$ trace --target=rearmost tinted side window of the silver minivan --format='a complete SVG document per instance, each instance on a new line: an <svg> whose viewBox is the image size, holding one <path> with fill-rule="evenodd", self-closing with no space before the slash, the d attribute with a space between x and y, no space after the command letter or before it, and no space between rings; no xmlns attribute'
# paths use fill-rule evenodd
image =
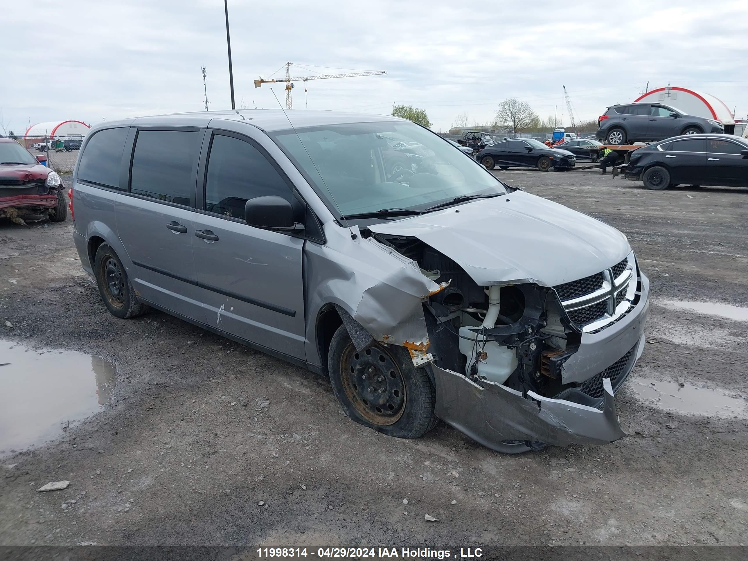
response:
<svg viewBox="0 0 748 561"><path fill-rule="evenodd" d="M122 152L129 128L96 132L86 144L78 165L78 179L96 185L119 188Z"/></svg>

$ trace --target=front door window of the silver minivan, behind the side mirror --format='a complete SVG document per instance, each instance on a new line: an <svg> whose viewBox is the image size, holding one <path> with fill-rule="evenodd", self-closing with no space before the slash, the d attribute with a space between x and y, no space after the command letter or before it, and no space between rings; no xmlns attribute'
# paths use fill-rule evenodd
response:
<svg viewBox="0 0 748 561"><path fill-rule="evenodd" d="M252 144L232 136L215 135L210 145L205 182L205 209L244 220L249 199L278 195L291 200L291 189Z"/></svg>

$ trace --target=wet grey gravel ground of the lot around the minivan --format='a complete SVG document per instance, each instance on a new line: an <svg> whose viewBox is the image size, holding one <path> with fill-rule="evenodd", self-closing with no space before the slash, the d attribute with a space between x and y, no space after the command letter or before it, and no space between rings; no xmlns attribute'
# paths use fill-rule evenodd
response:
<svg viewBox="0 0 748 561"><path fill-rule="evenodd" d="M442 423L384 437L343 416L326 378L163 313L111 316L70 219L4 222L0 337L90 353L117 376L104 411L1 460L0 545L748 542L748 421L666 411L635 390L680 381L748 399L748 323L667 304L748 306L748 191L497 175L618 227L652 281L651 344L616 396L626 438L504 456ZM64 491L36 491L61 479Z"/></svg>

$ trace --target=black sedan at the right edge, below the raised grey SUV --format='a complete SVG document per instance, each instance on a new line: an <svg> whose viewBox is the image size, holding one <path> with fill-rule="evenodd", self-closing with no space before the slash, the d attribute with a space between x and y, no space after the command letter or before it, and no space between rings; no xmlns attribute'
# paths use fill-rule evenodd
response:
<svg viewBox="0 0 748 561"><path fill-rule="evenodd" d="M654 191L681 184L748 187L748 139L732 135L667 138L631 153L622 174Z"/></svg>

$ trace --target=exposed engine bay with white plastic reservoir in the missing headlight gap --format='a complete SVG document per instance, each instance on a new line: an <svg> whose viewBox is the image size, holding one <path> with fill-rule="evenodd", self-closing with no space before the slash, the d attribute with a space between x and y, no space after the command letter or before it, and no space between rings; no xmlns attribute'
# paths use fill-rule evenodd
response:
<svg viewBox="0 0 748 561"><path fill-rule="evenodd" d="M529 283L478 286L455 261L419 239L375 237L414 260L432 281L448 283L424 304L438 367L522 393L551 397L565 389L561 366L579 348L581 332L554 289Z"/></svg>

